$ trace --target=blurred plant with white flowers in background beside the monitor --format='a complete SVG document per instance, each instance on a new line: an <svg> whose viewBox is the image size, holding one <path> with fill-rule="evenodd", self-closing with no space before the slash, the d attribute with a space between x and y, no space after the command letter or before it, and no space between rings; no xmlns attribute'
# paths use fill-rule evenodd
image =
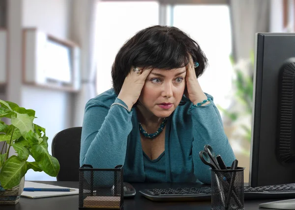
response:
<svg viewBox="0 0 295 210"><path fill-rule="evenodd" d="M253 105L253 70L254 53L249 59L240 59L237 63L230 56L233 65L233 91L231 92L231 105L223 108L217 105L224 114L224 122L228 130L227 136L239 142L239 152L245 157L250 156L251 143L251 117Z"/></svg>

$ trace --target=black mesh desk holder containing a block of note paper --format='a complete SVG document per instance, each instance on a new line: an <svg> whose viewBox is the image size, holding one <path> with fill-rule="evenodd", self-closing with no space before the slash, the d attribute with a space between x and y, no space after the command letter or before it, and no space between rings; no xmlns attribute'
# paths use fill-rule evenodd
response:
<svg viewBox="0 0 295 210"><path fill-rule="evenodd" d="M123 210L123 166L79 168L79 210Z"/></svg>

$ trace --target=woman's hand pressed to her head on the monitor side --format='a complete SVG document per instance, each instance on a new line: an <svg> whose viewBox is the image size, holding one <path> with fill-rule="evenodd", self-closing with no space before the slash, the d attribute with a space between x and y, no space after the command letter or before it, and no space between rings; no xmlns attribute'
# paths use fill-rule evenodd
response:
<svg viewBox="0 0 295 210"><path fill-rule="evenodd" d="M207 96L203 92L199 81L196 76L194 61L191 55L189 55L189 63L186 66L186 91L185 96L188 98L194 105L207 99ZM207 102L208 103L208 102ZM207 103L203 104L206 105Z"/></svg>

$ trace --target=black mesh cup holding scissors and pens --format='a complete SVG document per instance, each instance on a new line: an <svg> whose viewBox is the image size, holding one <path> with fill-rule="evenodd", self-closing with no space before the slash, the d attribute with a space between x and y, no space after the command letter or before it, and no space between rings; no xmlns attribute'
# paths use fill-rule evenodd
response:
<svg viewBox="0 0 295 210"><path fill-rule="evenodd" d="M211 210L244 210L244 169L211 169Z"/></svg>

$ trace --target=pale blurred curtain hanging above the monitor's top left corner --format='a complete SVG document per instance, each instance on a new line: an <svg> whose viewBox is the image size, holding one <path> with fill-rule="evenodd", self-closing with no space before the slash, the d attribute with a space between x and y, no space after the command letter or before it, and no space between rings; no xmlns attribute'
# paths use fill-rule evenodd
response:
<svg viewBox="0 0 295 210"><path fill-rule="evenodd" d="M256 32L269 31L270 0L230 0L236 62L254 52Z"/></svg>

